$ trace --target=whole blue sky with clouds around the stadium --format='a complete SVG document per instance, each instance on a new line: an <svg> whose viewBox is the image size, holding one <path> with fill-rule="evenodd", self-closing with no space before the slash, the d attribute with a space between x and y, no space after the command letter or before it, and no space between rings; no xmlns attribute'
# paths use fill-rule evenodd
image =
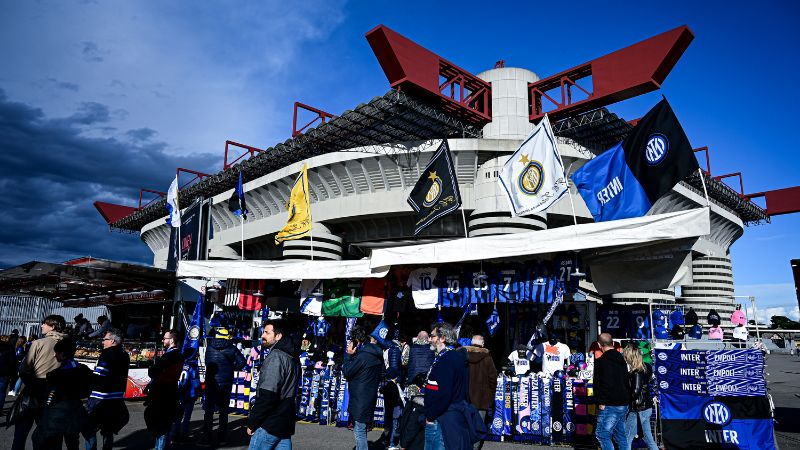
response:
<svg viewBox="0 0 800 450"><path fill-rule="evenodd" d="M339 114L385 93L364 39L380 23L473 73L503 59L542 77L687 24L695 40L663 89L611 109L640 117L663 93L714 174L743 172L747 192L800 185L800 7L709 3L0 0L0 266L150 262L92 202L135 205L176 167L219 171L226 139L281 142L294 101ZM800 214L776 217L732 247L760 316L798 316L798 229Z"/></svg>

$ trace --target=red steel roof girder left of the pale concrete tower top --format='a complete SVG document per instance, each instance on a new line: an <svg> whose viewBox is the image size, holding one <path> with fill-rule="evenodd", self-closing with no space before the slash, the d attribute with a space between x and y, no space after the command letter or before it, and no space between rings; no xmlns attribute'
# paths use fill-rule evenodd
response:
<svg viewBox="0 0 800 450"><path fill-rule="evenodd" d="M492 121L492 86L384 25L366 35L389 85L427 98L469 123Z"/></svg>

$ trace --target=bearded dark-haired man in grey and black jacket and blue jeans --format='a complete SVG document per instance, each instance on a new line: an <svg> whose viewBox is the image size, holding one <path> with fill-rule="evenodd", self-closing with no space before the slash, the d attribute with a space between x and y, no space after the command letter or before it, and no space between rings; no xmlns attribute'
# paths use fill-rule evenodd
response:
<svg viewBox="0 0 800 450"><path fill-rule="evenodd" d="M295 426L295 393L300 377L299 348L285 324L264 326L261 345L266 356L258 377L258 391L247 418L252 450L290 450Z"/></svg>

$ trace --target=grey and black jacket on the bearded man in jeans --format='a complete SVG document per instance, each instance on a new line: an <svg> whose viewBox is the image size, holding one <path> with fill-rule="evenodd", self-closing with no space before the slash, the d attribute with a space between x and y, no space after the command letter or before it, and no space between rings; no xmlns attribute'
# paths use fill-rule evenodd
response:
<svg viewBox="0 0 800 450"><path fill-rule="evenodd" d="M264 358L258 378L258 392L247 417L247 428L263 428L279 438L294 434L295 394L300 378L300 346L297 339L284 336Z"/></svg>

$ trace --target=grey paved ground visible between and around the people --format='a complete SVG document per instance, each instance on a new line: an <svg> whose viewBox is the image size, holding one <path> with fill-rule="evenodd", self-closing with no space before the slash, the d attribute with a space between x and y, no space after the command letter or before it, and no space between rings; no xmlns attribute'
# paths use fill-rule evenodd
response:
<svg viewBox="0 0 800 450"><path fill-rule="evenodd" d="M800 358L788 355L771 355L767 358L767 379L770 382L770 392L775 402L775 433L778 445L782 450L800 448L800 399L795 397L795 393L800 394ZM11 405L13 397L6 403L6 408ZM129 402L128 408L131 414L131 421L117 436L114 448L142 450L152 448L152 437L147 432L142 419L143 406L141 402ZM192 430L199 434L202 422L202 411L199 407L195 409L192 416ZM246 449L249 440L244 430L245 419L243 417L231 417L230 442L223 447L224 449ZM380 436L380 431L369 433L369 440L374 441ZM13 428L0 427L0 450L10 449L13 437ZM81 444L83 440L81 440ZM319 449L319 450L350 450L354 447L352 432L335 427L325 427L315 424L297 425L297 434L293 439L296 449ZM28 441L28 449L33 447ZM194 449L196 445L184 444L172 447L174 450ZM486 450L496 450L501 448L516 448L519 450L546 449L552 447L540 446L520 446L508 443L486 443L483 447Z"/></svg>

